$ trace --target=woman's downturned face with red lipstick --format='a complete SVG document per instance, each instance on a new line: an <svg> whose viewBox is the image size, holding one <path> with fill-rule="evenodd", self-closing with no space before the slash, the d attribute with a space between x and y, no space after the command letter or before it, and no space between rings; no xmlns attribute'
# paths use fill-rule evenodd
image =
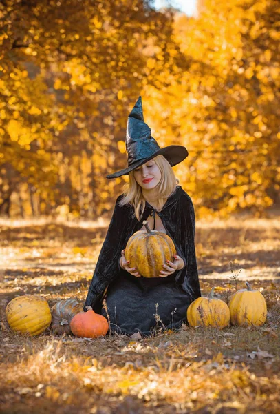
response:
<svg viewBox="0 0 280 414"><path fill-rule="evenodd" d="M136 179L137 184L142 187L144 190L151 190L155 188L160 182L162 177L160 168L153 159L150 159L146 164L143 164L136 170L133 170L134 178Z"/></svg>

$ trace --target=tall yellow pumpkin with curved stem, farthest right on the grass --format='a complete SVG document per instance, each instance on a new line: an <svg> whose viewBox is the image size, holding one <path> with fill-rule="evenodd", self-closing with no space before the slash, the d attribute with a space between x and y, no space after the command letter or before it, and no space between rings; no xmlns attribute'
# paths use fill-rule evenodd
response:
<svg viewBox="0 0 280 414"><path fill-rule="evenodd" d="M239 326L261 326L266 322L266 299L259 290L252 290L246 282L247 289L240 289L230 297L230 322Z"/></svg>

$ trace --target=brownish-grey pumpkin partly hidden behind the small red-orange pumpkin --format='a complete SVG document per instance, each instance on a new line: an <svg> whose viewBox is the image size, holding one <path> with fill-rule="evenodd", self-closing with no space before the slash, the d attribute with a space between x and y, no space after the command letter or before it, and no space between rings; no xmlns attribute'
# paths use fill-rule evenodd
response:
<svg viewBox="0 0 280 414"><path fill-rule="evenodd" d="M63 333L69 335L71 333L70 322L77 313L83 312L83 306L76 299L65 299L52 306L51 312L51 330L58 335Z"/></svg>

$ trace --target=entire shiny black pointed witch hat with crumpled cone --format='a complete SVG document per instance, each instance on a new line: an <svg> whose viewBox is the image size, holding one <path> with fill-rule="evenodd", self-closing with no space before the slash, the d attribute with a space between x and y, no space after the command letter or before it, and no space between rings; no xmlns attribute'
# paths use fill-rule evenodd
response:
<svg viewBox="0 0 280 414"><path fill-rule="evenodd" d="M129 171L142 166L157 155L163 155L171 166L179 164L189 155L186 148L181 145L169 145L160 148L157 141L151 136L151 129L144 122L141 97L138 98L129 114L125 145L128 153L128 167L107 175L107 178L128 175Z"/></svg>

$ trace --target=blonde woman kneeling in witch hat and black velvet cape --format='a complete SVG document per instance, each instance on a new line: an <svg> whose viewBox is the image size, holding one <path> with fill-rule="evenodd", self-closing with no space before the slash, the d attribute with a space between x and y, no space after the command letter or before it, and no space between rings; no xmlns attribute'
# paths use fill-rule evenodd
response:
<svg viewBox="0 0 280 414"><path fill-rule="evenodd" d="M109 317L111 331L150 335L158 328L179 328L189 304L200 296L193 204L176 185L171 168L188 152L183 146L158 146L144 122L141 97L129 115L126 146L128 167L107 178L129 175L129 183L116 201L85 306ZM152 279L142 277L125 259L127 241L145 230L144 220L169 235L176 248L173 262L166 262Z"/></svg>

